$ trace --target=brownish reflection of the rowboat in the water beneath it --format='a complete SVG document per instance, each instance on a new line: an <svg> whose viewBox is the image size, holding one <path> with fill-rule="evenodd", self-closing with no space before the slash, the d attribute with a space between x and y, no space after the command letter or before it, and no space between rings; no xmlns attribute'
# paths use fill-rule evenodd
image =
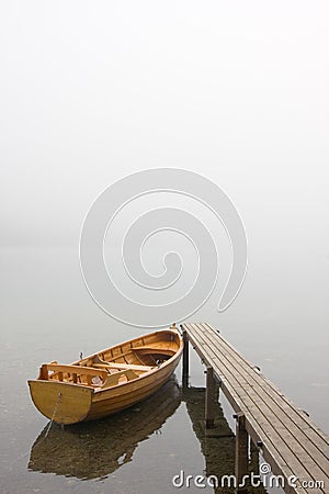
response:
<svg viewBox="0 0 329 494"><path fill-rule="evenodd" d="M29 470L78 479L111 474L132 461L138 444L161 428L181 402L175 379L135 407L97 422L68 428L53 424L35 440Z"/></svg>

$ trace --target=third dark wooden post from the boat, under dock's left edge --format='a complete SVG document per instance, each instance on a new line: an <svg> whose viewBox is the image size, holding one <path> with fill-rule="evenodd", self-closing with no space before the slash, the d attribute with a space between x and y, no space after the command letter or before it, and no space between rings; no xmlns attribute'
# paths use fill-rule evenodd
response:
<svg viewBox="0 0 329 494"><path fill-rule="evenodd" d="M248 475L248 433L246 430L246 419L242 413L236 415L236 480L240 485L243 475ZM237 487L237 492L246 492L247 485Z"/></svg>

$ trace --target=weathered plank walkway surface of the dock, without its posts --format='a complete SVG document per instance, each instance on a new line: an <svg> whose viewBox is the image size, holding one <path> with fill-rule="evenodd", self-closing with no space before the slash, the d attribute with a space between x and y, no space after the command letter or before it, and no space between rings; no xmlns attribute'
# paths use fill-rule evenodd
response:
<svg viewBox="0 0 329 494"><path fill-rule="evenodd" d="M245 416L246 430L253 441L262 441L264 459L273 472L285 479L294 474L299 481L325 481L324 489L286 491L328 493L328 437L212 326L184 324L182 328L204 363L220 379L234 409Z"/></svg>

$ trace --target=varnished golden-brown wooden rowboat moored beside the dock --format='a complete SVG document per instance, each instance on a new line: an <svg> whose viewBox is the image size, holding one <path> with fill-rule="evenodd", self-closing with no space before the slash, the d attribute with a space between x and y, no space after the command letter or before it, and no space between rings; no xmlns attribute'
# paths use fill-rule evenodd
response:
<svg viewBox="0 0 329 494"><path fill-rule="evenodd" d="M57 424L93 420L155 393L173 373L183 340L173 325L99 351L69 366L41 366L30 393L36 408Z"/></svg>

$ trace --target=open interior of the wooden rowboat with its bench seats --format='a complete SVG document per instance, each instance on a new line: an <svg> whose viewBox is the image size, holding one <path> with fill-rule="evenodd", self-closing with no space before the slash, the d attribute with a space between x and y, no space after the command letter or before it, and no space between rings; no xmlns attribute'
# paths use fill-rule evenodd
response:
<svg viewBox="0 0 329 494"><path fill-rule="evenodd" d="M161 330L82 358L72 364L44 363L38 380L94 389L113 388L160 368L180 349L178 333Z"/></svg>

